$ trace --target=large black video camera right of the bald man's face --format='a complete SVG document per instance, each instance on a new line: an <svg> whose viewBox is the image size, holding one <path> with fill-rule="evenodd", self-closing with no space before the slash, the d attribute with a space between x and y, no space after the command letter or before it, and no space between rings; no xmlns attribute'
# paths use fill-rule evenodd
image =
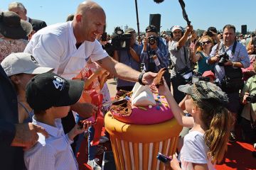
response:
<svg viewBox="0 0 256 170"><path fill-rule="evenodd" d="M131 39L131 34L124 34L124 31L117 27L114 29L111 44L114 50L129 50L129 43Z"/></svg>

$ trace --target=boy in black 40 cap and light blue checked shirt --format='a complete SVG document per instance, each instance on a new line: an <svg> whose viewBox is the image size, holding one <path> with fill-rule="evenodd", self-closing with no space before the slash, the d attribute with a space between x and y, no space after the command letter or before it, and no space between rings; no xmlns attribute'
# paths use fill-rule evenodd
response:
<svg viewBox="0 0 256 170"><path fill-rule="evenodd" d="M25 152L27 169L78 169L70 144L73 138L87 130L91 122L84 120L64 134L60 118L68 115L70 105L82 94L83 81L65 80L54 73L40 74L26 86L26 100L33 108L33 124L41 125L49 134L41 134L38 143Z"/></svg>

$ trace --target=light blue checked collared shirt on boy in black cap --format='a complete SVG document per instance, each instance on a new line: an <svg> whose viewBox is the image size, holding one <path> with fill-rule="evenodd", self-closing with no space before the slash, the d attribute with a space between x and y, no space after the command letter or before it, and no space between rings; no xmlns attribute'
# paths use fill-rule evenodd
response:
<svg viewBox="0 0 256 170"><path fill-rule="evenodd" d="M38 143L24 152L24 161L28 170L76 170L78 162L75 159L70 144L73 142L64 134L60 119L55 120L55 127L36 121L34 125L45 128L49 134L46 138L38 133Z"/></svg>

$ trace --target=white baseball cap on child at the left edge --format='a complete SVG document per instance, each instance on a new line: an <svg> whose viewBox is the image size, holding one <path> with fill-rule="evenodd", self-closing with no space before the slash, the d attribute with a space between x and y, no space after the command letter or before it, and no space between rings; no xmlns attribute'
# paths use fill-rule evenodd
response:
<svg viewBox="0 0 256 170"><path fill-rule="evenodd" d="M53 71L50 67L41 67L36 59L26 52L11 53L1 62L4 72L10 77L15 74L42 74Z"/></svg>

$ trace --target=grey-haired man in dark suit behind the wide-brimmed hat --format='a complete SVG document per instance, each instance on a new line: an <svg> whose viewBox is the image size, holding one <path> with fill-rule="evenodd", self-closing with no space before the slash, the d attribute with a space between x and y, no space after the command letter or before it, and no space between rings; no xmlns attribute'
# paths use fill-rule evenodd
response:
<svg viewBox="0 0 256 170"><path fill-rule="evenodd" d="M26 8L20 2L12 2L11 4L9 4L8 10L17 13L22 20L28 21L29 23L31 23L31 25L33 26L33 30L35 32L47 26L45 21L32 19L26 16L27 14Z"/></svg>

